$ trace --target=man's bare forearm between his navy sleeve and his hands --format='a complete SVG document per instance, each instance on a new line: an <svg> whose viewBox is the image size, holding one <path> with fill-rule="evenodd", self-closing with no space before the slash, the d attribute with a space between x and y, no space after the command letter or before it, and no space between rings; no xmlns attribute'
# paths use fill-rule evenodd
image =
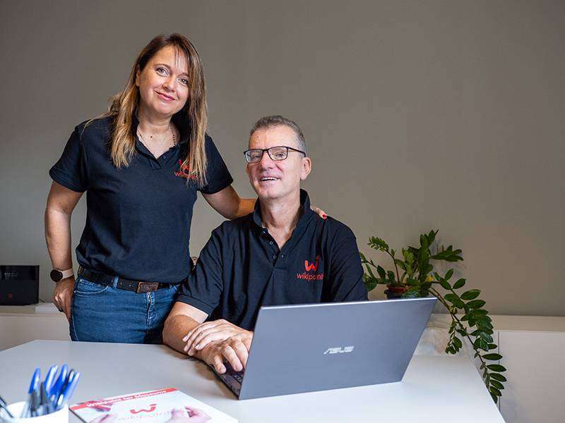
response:
<svg viewBox="0 0 565 423"><path fill-rule="evenodd" d="M206 320L208 314L184 302L175 302L163 329L163 343L177 350L179 353L186 354L184 347L186 341L183 338L187 333ZM198 357L200 358L200 357Z"/></svg>

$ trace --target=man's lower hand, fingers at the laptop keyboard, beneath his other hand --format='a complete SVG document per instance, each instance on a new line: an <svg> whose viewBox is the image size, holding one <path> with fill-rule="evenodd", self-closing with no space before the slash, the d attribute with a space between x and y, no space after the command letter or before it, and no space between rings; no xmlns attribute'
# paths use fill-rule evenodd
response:
<svg viewBox="0 0 565 423"><path fill-rule="evenodd" d="M241 372L247 365L251 348L251 337L235 335L223 341L212 341L199 351L199 358L213 366L219 374L226 371L224 362L227 361L236 372Z"/></svg>

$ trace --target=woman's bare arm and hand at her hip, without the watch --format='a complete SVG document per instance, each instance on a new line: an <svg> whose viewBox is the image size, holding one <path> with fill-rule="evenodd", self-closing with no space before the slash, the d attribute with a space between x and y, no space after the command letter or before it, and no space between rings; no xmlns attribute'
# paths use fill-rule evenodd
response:
<svg viewBox="0 0 565 423"><path fill-rule="evenodd" d="M53 182L45 207L45 240L53 269L66 270L73 266L71 256L71 214L82 192L75 192ZM71 318L74 276L57 282L53 302Z"/></svg>

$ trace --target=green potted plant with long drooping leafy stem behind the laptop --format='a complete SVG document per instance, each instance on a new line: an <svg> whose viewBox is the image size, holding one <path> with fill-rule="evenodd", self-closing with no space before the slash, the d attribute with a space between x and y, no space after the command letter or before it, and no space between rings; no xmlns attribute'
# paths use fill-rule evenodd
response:
<svg viewBox="0 0 565 423"><path fill-rule="evenodd" d="M459 262L463 261L461 250L454 250L451 245L445 248L443 245L437 247L435 254L432 253L432 245L436 240L438 231L430 231L420 235L420 247L408 246L401 250L402 257L396 256L396 251L388 247L388 244L378 237L369 238L369 247L386 253L391 257L394 271L385 270L377 265L372 259L367 259L359 252L362 264L366 272L363 280L367 290L373 290L377 285L386 285L387 298L415 298L434 295L438 301L446 307L451 316L449 327L449 340L446 345L446 353L456 354L463 347L461 338L467 338L475 350L475 358L480 360L480 370L484 384L496 403L504 389L506 382L501 372L506 369L496 362L502 356L498 353L489 353L496 349L492 339L494 333L492 319L484 309L484 300L480 300L480 290L470 289L460 293L465 286L466 280L460 278L451 282L453 269L448 269L444 276L434 271L434 261ZM400 269L400 270L399 270ZM376 271L376 275L374 271Z"/></svg>

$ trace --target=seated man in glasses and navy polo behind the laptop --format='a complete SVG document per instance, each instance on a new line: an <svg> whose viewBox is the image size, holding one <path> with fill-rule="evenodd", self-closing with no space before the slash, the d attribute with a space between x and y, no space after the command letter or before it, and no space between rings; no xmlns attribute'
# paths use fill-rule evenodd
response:
<svg viewBox="0 0 565 423"><path fill-rule="evenodd" d="M216 228L165 321L163 341L224 373L247 362L262 305L367 300L350 228L310 209L304 135L283 116L259 119L245 152L255 211ZM206 321L210 316L210 321Z"/></svg>

